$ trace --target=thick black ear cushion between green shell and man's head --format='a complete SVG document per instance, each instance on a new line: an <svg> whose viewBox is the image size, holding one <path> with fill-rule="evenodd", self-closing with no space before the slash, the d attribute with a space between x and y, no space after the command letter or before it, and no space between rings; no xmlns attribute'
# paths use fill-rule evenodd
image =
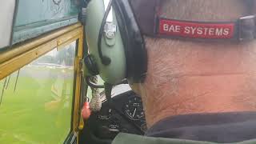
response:
<svg viewBox="0 0 256 144"><path fill-rule="evenodd" d="M127 0L114 0L114 10L126 52L126 70L129 82L143 81L147 70L144 38Z"/></svg>

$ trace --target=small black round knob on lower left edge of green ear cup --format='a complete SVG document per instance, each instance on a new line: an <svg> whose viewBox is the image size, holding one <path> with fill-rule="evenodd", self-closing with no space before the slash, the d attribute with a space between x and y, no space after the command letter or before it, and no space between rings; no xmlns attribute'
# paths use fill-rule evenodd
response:
<svg viewBox="0 0 256 144"><path fill-rule="evenodd" d="M96 62L94 62L94 58L89 54L84 59L84 71L86 75L98 75L98 67Z"/></svg>

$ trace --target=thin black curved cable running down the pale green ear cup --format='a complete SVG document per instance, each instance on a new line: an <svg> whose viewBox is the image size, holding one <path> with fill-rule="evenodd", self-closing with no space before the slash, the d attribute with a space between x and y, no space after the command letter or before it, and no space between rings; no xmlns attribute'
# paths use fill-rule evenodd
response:
<svg viewBox="0 0 256 144"><path fill-rule="evenodd" d="M106 12L104 14L104 17L102 19L101 28L100 28L99 33L98 33L98 56L101 59L102 64L105 65L105 66L110 65L111 59L106 57L106 56L103 56L103 54L102 54L102 36L103 36L103 33L104 33L104 26L106 24L106 18L110 14L112 3L113 3L113 0L110 0L109 5L106 8Z"/></svg>

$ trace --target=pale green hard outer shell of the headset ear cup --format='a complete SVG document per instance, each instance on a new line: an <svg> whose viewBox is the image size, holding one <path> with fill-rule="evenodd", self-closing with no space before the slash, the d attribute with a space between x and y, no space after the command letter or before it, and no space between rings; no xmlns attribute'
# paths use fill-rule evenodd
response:
<svg viewBox="0 0 256 144"><path fill-rule="evenodd" d="M113 4L112 2L109 4ZM106 5L107 3L104 3L103 0L91 0L87 6L85 38L90 56L85 58L86 62L83 62L86 63L84 74L98 74L104 82L115 85L126 78L126 52L114 8L110 9L110 14L112 14L110 19L112 20L106 20L106 22L103 20L108 13L106 11L106 6L109 6ZM102 23L104 24L103 32L101 30ZM108 38L107 32L114 33L113 38ZM102 41L99 40L101 35ZM86 70L90 73L86 73Z"/></svg>

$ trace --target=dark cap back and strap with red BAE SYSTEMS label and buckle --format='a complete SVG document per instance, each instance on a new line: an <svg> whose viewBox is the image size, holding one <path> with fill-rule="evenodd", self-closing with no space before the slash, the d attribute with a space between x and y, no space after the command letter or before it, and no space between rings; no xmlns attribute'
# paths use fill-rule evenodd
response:
<svg viewBox="0 0 256 144"><path fill-rule="evenodd" d="M130 0L142 34L156 38L194 38L246 41L256 38L256 17L249 15L236 22L190 22L162 18L161 0Z"/></svg>

